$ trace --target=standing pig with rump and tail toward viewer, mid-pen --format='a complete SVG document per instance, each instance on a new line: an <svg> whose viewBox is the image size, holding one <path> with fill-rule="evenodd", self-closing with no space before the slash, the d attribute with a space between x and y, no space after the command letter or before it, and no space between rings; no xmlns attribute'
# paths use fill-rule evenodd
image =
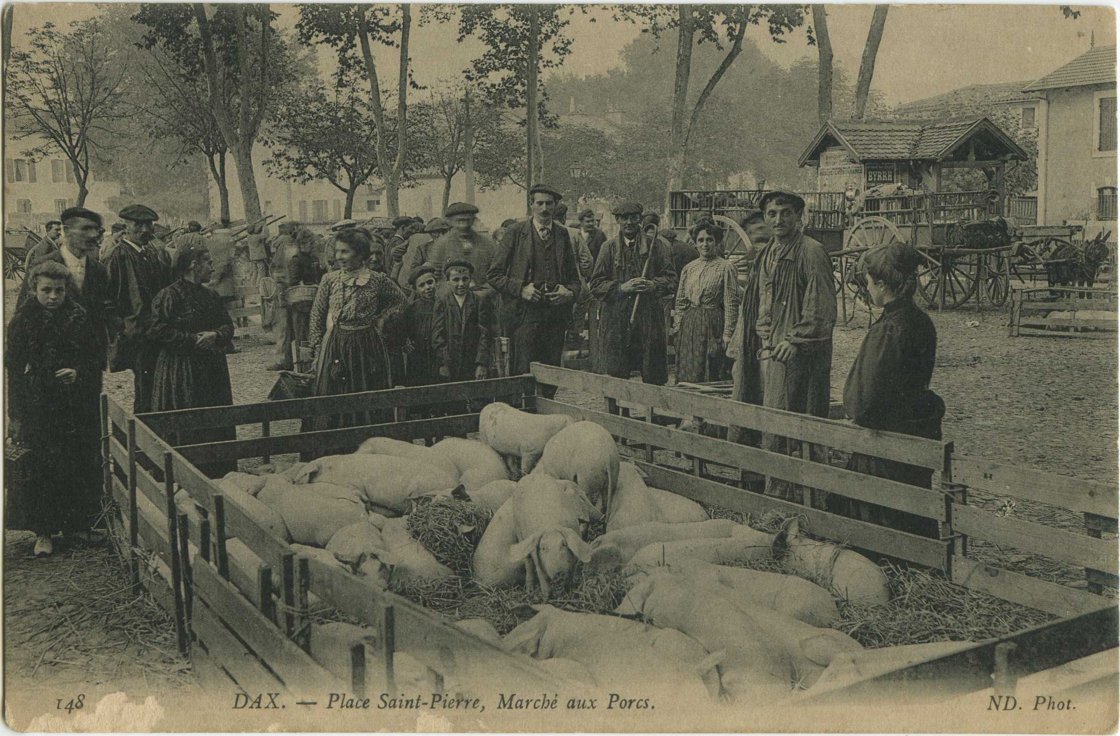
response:
<svg viewBox="0 0 1120 736"><path fill-rule="evenodd" d="M548 441L534 472L576 482L606 512L618 484L618 449L595 422L576 422Z"/></svg>

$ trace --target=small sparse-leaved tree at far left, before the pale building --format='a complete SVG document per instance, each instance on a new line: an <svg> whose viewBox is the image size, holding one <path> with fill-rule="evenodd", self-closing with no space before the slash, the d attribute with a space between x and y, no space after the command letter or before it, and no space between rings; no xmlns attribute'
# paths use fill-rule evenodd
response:
<svg viewBox="0 0 1120 736"><path fill-rule="evenodd" d="M74 169L78 206L90 194L91 159L101 139L128 116L119 103L128 86L127 51L106 43L97 18L69 23L59 32L52 22L28 31L29 50L11 55L7 92L15 111L15 139L45 140L25 155L52 151Z"/></svg>

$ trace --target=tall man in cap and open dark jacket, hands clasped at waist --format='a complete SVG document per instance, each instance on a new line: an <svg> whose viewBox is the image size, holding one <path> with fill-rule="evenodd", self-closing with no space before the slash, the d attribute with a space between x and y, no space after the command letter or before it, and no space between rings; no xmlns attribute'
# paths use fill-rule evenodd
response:
<svg viewBox="0 0 1120 736"><path fill-rule="evenodd" d="M511 370L529 364L559 366L572 304L579 296L579 267L568 230L552 221L560 192L543 185L529 190L532 217L506 230L487 280L502 295L502 334L510 338ZM551 390L550 390L551 389ZM545 397L556 387L545 387Z"/></svg>

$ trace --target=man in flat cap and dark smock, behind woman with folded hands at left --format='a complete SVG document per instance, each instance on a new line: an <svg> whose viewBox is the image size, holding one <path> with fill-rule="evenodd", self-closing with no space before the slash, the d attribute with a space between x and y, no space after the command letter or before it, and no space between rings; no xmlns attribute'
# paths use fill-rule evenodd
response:
<svg viewBox="0 0 1120 736"><path fill-rule="evenodd" d="M109 254L109 299L115 322L109 370L132 369L132 413L151 411L152 374L161 343L150 339L151 300L175 281L166 248L155 245L152 224L159 219L143 205L129 205L118 217L124 235Z"/></svg>

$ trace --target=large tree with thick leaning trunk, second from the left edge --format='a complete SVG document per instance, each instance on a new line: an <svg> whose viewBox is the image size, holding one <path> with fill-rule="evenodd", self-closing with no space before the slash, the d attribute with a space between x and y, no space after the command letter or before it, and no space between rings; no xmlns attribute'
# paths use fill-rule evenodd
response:
<svg viewBox="0 0 1120 736"><path fill-rule="evenodd" d="M253 144L270 106L305 73L274 18L264 4L220 4L209 15L203 3L142 3L133 16L148 28L144 48L205 81L202 101L233 154L249 219L261 215Z"/></svg>

